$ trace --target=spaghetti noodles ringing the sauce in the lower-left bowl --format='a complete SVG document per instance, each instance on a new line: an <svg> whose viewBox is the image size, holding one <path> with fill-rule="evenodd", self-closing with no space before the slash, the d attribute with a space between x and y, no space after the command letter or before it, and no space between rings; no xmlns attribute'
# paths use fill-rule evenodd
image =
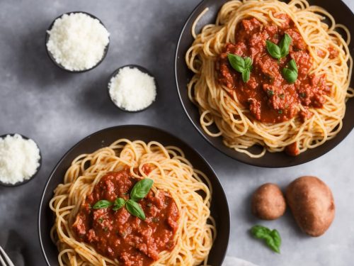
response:
<svg viewBox="0 0 354 266"><path fill-rule="evenodd" d="M64 183L55 189L50 201L50 208L55 212L51 237L59 250L59 265L122 265L119 257L105 257L89 243L76 240L72 225L86 196L105 174L124 169L132 178L152 179L152 192L168 192L179 211L174 248L159 253L152 265L207 265L216 237L215 221L209 209L212 196L209 180L193 168L179 148L127 139L76 157L65 174ZM143 223L140 224L144 226Z"/></svg>

